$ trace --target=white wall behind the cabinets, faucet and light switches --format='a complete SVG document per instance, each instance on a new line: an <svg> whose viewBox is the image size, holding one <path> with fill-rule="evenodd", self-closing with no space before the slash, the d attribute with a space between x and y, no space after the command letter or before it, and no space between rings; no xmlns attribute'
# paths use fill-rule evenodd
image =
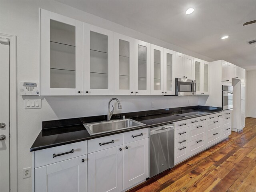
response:
<svg viewBox="0 0 256 192"><path fill-rule="evenodd" d="M163 46L197 58L212 61L192 51L168 44L156 38L125 28L103 18L82 12L55 1L0 1L0 32L18 37L18 82L39 80L39 39L38 8L69 16L121 34L126 34L158 46ZM118 112L151 110L198 104L198 97L165 96L116 96L122 103ZM18 188L19 192L32 191L32 178L22 178L22 169L32 166L32 153L29 152L36 136L42 129L42 121L58 118L73 118L106 114L107 103L112 96L48 96L42 98L41 109L24 110L24 99L36 96L18 95Z"/></svg>

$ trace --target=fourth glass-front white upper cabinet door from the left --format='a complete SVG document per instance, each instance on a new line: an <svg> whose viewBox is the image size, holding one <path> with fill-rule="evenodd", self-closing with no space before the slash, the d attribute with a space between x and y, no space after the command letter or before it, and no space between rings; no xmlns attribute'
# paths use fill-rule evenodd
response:
<svg viewBox="0 0 256 192"><path fill-rule="evenodd" d="M150 44L134 39L134 94L150 95Z"/></svg>

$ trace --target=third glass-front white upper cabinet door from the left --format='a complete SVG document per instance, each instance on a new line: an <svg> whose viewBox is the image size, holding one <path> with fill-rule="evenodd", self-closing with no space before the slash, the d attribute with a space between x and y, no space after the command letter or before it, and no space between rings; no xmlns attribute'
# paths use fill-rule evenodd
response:
<svg viewBox="0 0 256 192"><path fill-rule="evenodd" d="M114 94L134 94L134 39L114 33Z"/></svg>

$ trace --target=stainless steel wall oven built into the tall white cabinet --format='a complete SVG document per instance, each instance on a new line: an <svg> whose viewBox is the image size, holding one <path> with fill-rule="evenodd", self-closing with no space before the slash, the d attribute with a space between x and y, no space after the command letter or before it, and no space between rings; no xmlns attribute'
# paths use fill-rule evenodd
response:
<svg viewBox="0 0 256 192"><path fill-rule="evenodd" d="M222 85L222 110L233 109L233 86Z"/></svg>

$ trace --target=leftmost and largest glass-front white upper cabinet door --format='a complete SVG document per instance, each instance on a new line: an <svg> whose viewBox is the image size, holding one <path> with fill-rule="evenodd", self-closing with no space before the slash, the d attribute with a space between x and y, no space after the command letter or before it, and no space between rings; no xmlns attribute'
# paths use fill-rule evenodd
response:
<svg viewBox="0 0 256 192"><path fill-rule="evenodd" d="M40 12L41 95L82 95L83 23Z"/></svg>

